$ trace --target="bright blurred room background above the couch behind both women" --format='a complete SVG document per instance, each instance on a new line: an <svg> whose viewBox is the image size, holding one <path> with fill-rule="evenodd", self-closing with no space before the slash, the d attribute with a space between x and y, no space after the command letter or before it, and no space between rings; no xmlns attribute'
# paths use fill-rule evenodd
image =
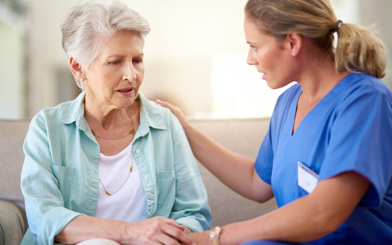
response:
<svg viewBox="0 0 392 245"><path fill-rule="evenodd" d="M141 92L192 118L270 117L271 90L246 65L246 0L123 0L151 26ZM0 0L0 118L34 116L80 92L61 48L60 22L77 0ZM338 19L375 24L387 47L392 88L391 0L331 0ZM290 85L289 85L290 86Z"/></svg>

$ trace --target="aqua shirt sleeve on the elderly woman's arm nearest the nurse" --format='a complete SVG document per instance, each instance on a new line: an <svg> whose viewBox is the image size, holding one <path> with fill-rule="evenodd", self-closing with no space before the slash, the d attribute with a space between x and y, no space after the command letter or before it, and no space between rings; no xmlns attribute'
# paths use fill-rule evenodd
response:
<svg viewBox="0 0 392 245"><path fill-rule="evenodd" d="M171 115L175 172L175 199L169 218L193 232L211 228L207 191L197 169L195 157L178 120Z"/></svg>

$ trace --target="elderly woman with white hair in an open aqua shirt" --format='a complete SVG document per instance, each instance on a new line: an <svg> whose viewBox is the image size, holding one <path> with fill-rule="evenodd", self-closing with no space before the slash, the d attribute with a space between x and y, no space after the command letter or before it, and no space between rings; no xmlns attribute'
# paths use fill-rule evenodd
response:
<svg viewBox="0 0 392 245"><path fill-rule="evenodd" d="M30 123L22 244L192 244L211 214L181 125L139 93L147 21L118 1L88 2L61 29L82 93Z"/></svg>

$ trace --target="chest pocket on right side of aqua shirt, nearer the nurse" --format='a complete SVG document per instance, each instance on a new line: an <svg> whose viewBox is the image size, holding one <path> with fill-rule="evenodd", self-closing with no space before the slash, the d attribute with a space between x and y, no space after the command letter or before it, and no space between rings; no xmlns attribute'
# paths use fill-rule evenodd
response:
<svg viewBox="0 0 392 245"><path fill-rule="evenodd" d="M174 171L156 172L157 176L157 208L156 214L169 216L175 198L175 174Z"/></svg>

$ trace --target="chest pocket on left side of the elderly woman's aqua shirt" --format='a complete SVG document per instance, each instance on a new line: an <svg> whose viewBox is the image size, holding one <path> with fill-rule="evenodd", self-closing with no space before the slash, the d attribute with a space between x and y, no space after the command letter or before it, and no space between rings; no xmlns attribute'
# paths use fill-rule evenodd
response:
<svg viewBox="0 0 392 245"><path fill-rule="evenodd" d="M54 177L58 180L58 189L63 196L64 205L68 207L75 169L64 166L52 166L52 169Z"/></svg>

